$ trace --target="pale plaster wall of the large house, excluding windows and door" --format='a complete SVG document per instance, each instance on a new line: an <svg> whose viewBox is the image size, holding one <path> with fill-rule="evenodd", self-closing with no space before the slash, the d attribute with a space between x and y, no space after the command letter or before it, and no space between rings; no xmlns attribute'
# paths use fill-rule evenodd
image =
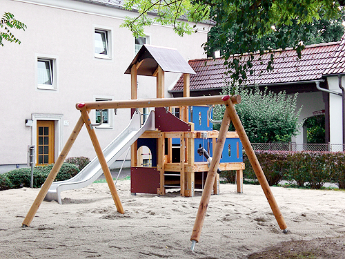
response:
<svg viewBox="0 0 345 259"><path fill-rule="evenodd" d="M131 32L119 28L123 22L123 19L115 17L119 10L72 0L41 2L70 5L70 8L43 6L28 1L1 1L1 10L12 12L28 28L25 32L14 31L14 35L21 40L20 45L4 42L5 46L0 47L0 96L3 107L0 165L26 164L27 146L36 144L32 143L32 128L25 126L25 119L32 119L32 114L62 115L62 121L69 121L69 126L62 127L61 151L80 115L75 109L77 102L94 101L96 95L130 99L130 75L124 75L124 72L134 58L135 46ZM75 8L89 8L92 12L101 8L106 10L107 15ZM95 26L112 29L111 60L94 57L92 37ZM185 59L204 57L201 44L207 40L206 32L179 37L172 28L157 25L146 28L146 33L151 36L150 44L177 48ZM57 90L37 90L37 55L57 57ZM170 74L166 75L166 87L179 76ZM155 78L140 77L138 81L140 99L155 97ZM112 128L97 129L101 146L106 146L129 119L129 110L118 111ZM81 155L95 156L85 128L68 156Z"/></svg>

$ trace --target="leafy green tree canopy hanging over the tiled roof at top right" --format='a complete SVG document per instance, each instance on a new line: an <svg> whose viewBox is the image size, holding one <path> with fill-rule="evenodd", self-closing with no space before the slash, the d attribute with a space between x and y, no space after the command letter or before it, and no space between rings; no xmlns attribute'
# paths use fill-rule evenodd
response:
<svg viewBox="0 0 345 259"><path fill-rule="evenodd" d="M194 27L188 22L199 23L211 19L219 28L219 44L226 46L222 57L233 79L232 84L242 84L246 73L253 73L254 56L241 62L241 54L267 50L266 36L277 30L277 47L286 48L286 42L293 43L297 54L304 48L299 34L295 32L313 19L337 19L342 15L343 0L125 0L125 8L135 9L138 17L127 17L123 23L135 36L143 35L144 26L152 22L170 24L179 35L191 33ZM150 16L151 15L151 16ZM153 18L152 18L153 17ZM284 26L295 23L290 33ZM233 33L228 37L228 33ZM206 49L208 44L206 43ZM273 52L273 50L269 50ZM231 58L231 59L230 59ZM273 68L273 54L267 66Z"/></svg>

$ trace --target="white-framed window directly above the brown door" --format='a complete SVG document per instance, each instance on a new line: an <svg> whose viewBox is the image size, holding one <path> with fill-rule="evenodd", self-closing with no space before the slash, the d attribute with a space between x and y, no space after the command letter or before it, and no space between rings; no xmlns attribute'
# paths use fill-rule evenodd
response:
<svg viewBox="0 0 345 259"><path fill-rule="evenodd" d="M37 88L57 89L57 59L37 57Z"/></svg>

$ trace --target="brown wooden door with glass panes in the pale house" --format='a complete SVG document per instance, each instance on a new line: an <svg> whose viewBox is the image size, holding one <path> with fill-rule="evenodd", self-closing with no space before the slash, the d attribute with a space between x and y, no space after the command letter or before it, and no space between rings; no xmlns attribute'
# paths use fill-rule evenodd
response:
<svg viewBox="0 0 345 259"><path fill-rule="evenodd" d="M37 165L54 163L54 121L37 121Z"/></svg>

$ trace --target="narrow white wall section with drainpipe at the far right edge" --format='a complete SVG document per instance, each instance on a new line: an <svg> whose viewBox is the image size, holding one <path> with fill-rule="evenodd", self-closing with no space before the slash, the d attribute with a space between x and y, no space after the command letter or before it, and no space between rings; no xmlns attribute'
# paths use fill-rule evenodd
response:
<svg viewBox="0 0 345 259"><path fill-rule="evenodd" d="M328 77L329 90L342 93L339 88L338 77ZM345 86L345 79L342 79L342 85ZM331 144L343 144L342 137L342 97L339 95L329 95L329 124L330 124L330 142Z"/></svg>

